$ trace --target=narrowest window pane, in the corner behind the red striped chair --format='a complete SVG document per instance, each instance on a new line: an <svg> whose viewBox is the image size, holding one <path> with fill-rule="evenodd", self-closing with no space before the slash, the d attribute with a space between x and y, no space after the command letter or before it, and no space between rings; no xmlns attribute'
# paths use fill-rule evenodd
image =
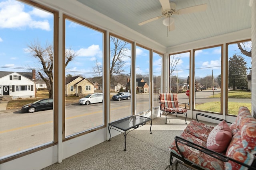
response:
<svg viewBox="0 0 256 170"><path fill-rule="evenodd" d="M159 93L161 90L162 55L153 53L153 107L159 107Z"/></svg>

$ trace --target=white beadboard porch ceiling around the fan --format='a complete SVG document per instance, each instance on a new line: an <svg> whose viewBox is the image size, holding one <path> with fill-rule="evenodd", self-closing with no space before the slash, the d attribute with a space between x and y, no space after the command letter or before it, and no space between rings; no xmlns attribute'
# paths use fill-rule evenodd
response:
<svg viewBox="0 0 256 170"><path fill-rule="evenodd" d="M207 4L207 9L203 12L173 15L176 29L170 32L162 24L164 17L141 26L138 25L142 21L161 16L159 0L77 1L165 47L172 47L251 27L250 0L170 0L170 2L176 3L176 10Z"/></svg>

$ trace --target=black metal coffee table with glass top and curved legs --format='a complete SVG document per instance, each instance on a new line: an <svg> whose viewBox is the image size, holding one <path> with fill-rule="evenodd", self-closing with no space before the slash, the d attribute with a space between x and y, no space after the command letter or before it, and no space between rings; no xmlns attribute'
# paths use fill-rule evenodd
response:
<svg viewBox="0 0 256 170"><path fill-rule="evenodd" d="M124 135L124 151L126 151L126 136L129 132L137 129L139 126L143 126L150 123L150 134L152 134L151 127L152 127L152 120L149 117L143 117L139 115L132 115L128 117L124 117L123 119L119 119L117 121L108 123L108 131L109 131L109 140L111 138L110 129L115 129L116 131L121 132ZM132 130L130 130L132 129ZM124 132L122 132L122 131ZM130 131L128 131L130 130ZM126 131L128 131L126 133Z"/></svg>

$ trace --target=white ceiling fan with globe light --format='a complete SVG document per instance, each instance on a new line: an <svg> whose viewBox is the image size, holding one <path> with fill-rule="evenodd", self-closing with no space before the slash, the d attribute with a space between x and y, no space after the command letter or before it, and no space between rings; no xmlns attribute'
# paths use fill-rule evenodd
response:
<svg viewBox="0 0 256 170"><path fill-rule="evenodd" d="M161 5L162 5L162 15L161 16L157 16L154 18L151 18L149 20L143 21L141 23L139 23L139 25L144 25L146 23L158 20L162 17L166 17L163 20L163 24L168 26L168 30L172 31L175 29L174 26L174 18L172 18L171 16L174 14L188 14L188 13L192 13L192 12L201 12L201 11L205 11L207 8L207 4L202 4L202 5L197 5L197 6L191 6L188 8L183 8L180 10L176 10L176 3L175 2L169 2L169 0L159 0Z"/></svg>

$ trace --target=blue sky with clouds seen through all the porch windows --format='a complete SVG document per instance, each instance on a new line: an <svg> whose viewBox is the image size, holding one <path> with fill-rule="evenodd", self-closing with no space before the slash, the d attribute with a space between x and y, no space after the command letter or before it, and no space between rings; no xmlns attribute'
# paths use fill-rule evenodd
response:
<svg viewBox="0 0 256 170"><path fill-rule="evenodd" d="M96 59L102 62L102 33L89 29L74 22L66 21L66 48L71 48L78 56L68 64L66 70L70 74L84 74L85 77L92 76ZM46 42L53 44L53 15L38 10L32 6L15 0L0 0L0 57L1 71L26 71L14 68L37 68L38 61L31 57L27 51L27 45L38 41L42 46ZM236 45L230 45L229 55L238 53ZM220 47L196 51L196 76L214 76L220 74L221 64ZM138 47L136 49L136 72L140 74L149 72L149 53ZM124 74L130 72L130 51L124 58L126 64ZM189 55L179 55L181 59L177 65L178 76L187 77L189 72ZM230 57L230 56L229 56ZM245 57L250 63L250 59ZM209 66L216 66L208 68ZM160 75L161 58L154 53L153 72ZM176 74L176 73L175 73Z"/></svg>

